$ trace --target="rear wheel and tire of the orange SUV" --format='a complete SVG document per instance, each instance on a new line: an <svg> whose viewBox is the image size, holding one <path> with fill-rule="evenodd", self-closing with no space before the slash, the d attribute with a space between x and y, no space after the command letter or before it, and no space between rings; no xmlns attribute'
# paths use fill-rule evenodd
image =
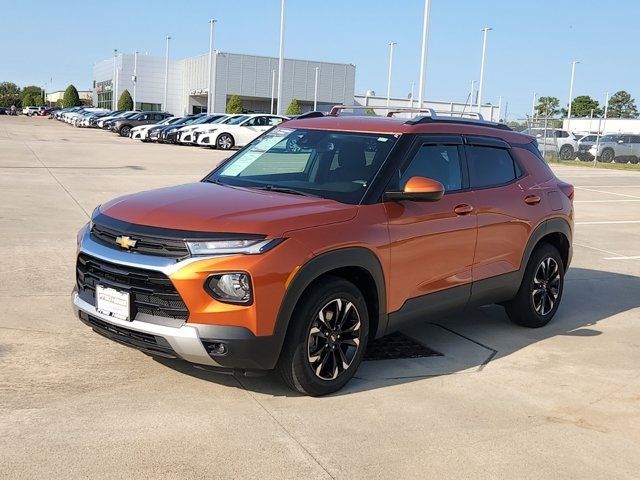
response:
<svg viewBox="0 0 640 480"><path fill-rule="evenodd" d="M558 311L563 288L560 253L553 245L542 243L529 258L518 293L505 303L507 315L523 327L544 327Z"/></svg>

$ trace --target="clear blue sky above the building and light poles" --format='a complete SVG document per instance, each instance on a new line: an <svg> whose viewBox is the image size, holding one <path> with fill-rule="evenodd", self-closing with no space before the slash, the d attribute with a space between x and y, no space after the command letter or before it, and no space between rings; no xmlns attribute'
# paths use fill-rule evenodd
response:
<svg viewBox="0 0 640 480"><path fill-rule="evenodd" d="M531 109L533 92L565 104L571 60L574 95L603 103L605 92L640 94L640 2L612 0L431 0L427 99L465 101L488 42L486 101L509 102L509 117ZM91 86L92 65L113 49L188 57L208 51L207 20L218 19L216 48L278 54L279 0L77 2L1 0L0 81L62 89ZM385 95L389 41L392 95L406 96L420 66L423 0L288 0L285 56L356 65L356 92ZM13 19L13 21L7 21ZM31 19L31 20L29 20ZM42 26L49 28L42 28ZM28 28L27 28L28 27ZM417 93L416 93L417 96Z"/></svg>

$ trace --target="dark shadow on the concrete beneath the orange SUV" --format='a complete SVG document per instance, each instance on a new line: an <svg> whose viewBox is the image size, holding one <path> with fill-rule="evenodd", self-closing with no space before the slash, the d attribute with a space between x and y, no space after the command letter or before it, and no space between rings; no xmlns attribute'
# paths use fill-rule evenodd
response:
<svg viewBox="0 0 640 480"><path fill-rule="evenodd" d="M580 338L584 342L580 348L589 348L593 337L602 333L599 322L615 321L615 315L640 307L639 291L640 277L571 268L562 304L547 326L529 329L515 325L498 305L468 308L456 316L425 319L402 332L441 355L363 362L354 378L331 396L352 395L442 375L479 373L493 360L557 336ZM181 360L156 360L201 380L272 396L299 396L282 385L272 372L233 374L235 382L230 382L228 374L208 371Z"/></svg>

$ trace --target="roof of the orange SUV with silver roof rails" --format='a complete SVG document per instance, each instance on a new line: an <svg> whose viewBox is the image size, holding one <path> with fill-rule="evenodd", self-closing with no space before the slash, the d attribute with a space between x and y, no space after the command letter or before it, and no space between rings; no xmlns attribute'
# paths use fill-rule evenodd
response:
<svg viewBox="0 0 640 480"><path fill-rule="evenodd" d="M502 130L492 124L482 125L454 119L433 120L425 123L407 123L406 118L376 116L333 116L289 120L290 128L314 130L340 130L379 134L466 134L500 138L509 143L529 143L533 137L511 130Z"/></svg>

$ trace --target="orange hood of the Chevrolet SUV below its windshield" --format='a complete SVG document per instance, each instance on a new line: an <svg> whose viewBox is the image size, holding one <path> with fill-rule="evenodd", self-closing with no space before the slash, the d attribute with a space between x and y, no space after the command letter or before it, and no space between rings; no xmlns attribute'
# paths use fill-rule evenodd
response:
<svg viewBox="0 0 640 480"><path fill-rule="evenodd" d="M357 209L323 198L201 182L127 195L101 205L99 211L137 225L277 238L292 230L350 220Z"/></svg>

